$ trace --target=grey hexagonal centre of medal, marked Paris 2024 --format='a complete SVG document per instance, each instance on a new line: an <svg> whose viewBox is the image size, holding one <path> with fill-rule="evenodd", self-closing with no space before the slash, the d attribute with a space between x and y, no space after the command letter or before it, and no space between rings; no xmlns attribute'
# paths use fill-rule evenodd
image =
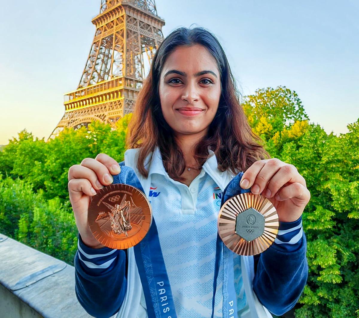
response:
<svg viewBox="0 0 359 318"><path fill-rule="evenodd" d="M264 215L253 208L239 213L236 218L235 233L246 241L260 237L264 233Z"/></svg>

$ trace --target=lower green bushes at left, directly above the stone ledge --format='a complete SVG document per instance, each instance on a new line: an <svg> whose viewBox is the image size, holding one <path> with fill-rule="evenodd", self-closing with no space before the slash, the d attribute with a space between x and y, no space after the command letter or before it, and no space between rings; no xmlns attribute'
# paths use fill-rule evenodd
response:
<svg viewBox="0 0 359 318"><path fill-rule="evenodd" d="M19 178L0 179L0 193L1 233L73 264L78 231L69 203L46 200Z"/></svg>

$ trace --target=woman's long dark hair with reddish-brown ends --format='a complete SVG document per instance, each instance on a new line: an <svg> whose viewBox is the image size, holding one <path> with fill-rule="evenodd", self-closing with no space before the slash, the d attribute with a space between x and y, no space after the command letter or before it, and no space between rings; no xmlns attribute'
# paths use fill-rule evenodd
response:
<svg viewBox="0 0 359 318"><path fill-rule="evenodd" d="M237 174L245 171L255 161L269 158L261 145L261 139L252 132L248 124L227 57L217 38L202 27L181 27L171 32L158 47L129 123L127 148L140 147L137 169L146 178L148 171L144 167L144 160L158 145L168 175L174 180L185 180L180 177L185 170L185 159L175 141L172 128L163 117L158 88L160 74L168 55L177 46L194 44L206 47L214 56L222 87L218 110L208 134L196 145L195 159L199 167L209 156L208 146L214 151L218 169L222 172L229 169Z"/></svg>

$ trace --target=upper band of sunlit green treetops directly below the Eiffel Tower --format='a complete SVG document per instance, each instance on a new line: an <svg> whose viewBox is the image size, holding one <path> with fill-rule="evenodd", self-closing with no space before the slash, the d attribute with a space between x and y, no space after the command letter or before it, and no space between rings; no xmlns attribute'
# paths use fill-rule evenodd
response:
<svg viewBox="0 0 359 318"><path fill-rule="evenodd" d="M65 128L53 140L33 141L32 133L23 130L0 152L0 173L21 178L32 184L35 192L42 189L47 199L59 196L68 200L67 174L71 165L84 158L106 153L118 162L125 153L125 136L132 114L127 114L111 131L109 124L92 122L88 129Z"/></svg>

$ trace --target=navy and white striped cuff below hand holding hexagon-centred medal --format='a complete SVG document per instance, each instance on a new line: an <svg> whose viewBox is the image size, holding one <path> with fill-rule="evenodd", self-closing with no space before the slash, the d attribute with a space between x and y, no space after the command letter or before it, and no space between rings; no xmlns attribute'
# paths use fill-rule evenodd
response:
<svg viewBox="0 0 359 318"><path fill-rule="evenodd" d="M284 252L297 250L302 244L302 216L294 222L279 222L278 235L274 240L275 247Z"/></svg>

